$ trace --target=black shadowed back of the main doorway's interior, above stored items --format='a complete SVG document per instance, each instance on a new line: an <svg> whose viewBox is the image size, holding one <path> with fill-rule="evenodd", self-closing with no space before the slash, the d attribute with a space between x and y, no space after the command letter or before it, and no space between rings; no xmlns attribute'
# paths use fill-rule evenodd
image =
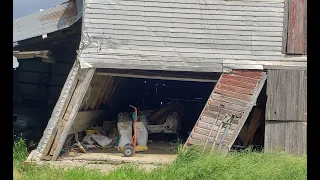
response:
<svg viewBox="0 0 320 180"><path fill-rule="evenodd" d="M156 110L172 101L178 101L183 106L181 128L178 132L182 139L188 137L188 132L192 130L215 85L213 82L138 78L122 78L121 81L124 81L123 85L114 92L117 100L114 107L111 107L110 119L116 119L119 112L132 111L129 105ZM166 137L157 134L151 135L149 139L152 138Z"/></svg>

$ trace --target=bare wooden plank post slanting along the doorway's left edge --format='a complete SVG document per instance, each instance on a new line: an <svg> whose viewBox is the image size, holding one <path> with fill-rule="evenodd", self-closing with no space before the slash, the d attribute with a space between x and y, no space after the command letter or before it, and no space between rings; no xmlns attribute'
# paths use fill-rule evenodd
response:
<svg viewBox="0 0 320 180"><path fill-rule="evenodd" d="M95 68L92 68L92 69L89 69L89 70L86 70L87 73L84 77L84 80L81 82L79 88L76 89L77 92L75 92L75 94L73 95L75 98L75 101L74 101L74 104L73 104L73 108L72 108L72 111L70 113L70 116L69 118L67 119L67 122L66 122L66 125L62 131L62 134L59 138L59 143L57 144L57 147L56 147L56 150L52 156L52 159L51 160L56 160L61 152L61 149L63 147L63 144L68 136L68 133L71 129L71 126L74 122L74 119L78 113L78 110L81 106L81 103L83 101L83 98L88 90L88 87L90 85L90 82L91 82L91 79L95 73ZM71 104L69 104L70 106Z"/></svg>

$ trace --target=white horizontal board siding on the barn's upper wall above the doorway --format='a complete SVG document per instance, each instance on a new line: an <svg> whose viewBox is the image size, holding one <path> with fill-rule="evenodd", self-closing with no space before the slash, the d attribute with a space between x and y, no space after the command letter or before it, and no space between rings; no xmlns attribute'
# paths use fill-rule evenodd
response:
<svg viewBox="0 0 320 180"><path fill-rule="evenodd" d="M174 71L305 67L282 55L284 0L85 0L83 67Z"/></svg>

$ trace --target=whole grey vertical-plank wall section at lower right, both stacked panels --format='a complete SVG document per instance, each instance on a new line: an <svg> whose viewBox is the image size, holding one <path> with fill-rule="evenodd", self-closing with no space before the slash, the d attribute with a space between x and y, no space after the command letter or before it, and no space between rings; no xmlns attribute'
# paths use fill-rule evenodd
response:
<svg viewBox="0 0 320 180"><path fill-rule="evenodd" d="M306 152L307 71L268 70L265 149Z"/></svg>

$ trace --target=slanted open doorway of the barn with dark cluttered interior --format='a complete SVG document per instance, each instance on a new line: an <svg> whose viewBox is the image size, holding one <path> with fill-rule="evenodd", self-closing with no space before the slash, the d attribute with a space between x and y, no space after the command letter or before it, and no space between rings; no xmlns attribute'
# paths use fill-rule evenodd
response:
<svg viewBox="0 0 320 180"><path fill-rule="evenodd" d="M192 131L194 124L204 108L212 90L220 76L210 80L176 80L156 79L154 77L111 77L96 73L73 124L73 132L65 142L60 159L64 160L94 160L109 161L140 161L140 162L170 162L176 158L177 148L182 145ZM99 82L100 79L113 79L107 83L108 88ZM95 88L101 88L97 90ZM105 92L103 92L105 91ZM108 97L99 102L99 98ZM95 105L92 102L95 101ZM105 102L103 102L105 101ZM87 105L86 105L87 104ZM91 105L90 105L91 104ZM138 121L144 124L147 131L148 150L138 152L130 159L123 159L119 152L119 123L132 121L133 105L138 108ZM92 107L92 108L90 108ZM100 113L99 117L97 112ZM80 115L79 115L80 114ZM85 116L85 117L84 117ZM88 148L87 153L70 151L74 133L79 134L79 140L88 138L88 130L99 131L112 144L107 148ZM142 137L143 138L143 137ZM69 141L68 141L69 140Z"/></svg>

